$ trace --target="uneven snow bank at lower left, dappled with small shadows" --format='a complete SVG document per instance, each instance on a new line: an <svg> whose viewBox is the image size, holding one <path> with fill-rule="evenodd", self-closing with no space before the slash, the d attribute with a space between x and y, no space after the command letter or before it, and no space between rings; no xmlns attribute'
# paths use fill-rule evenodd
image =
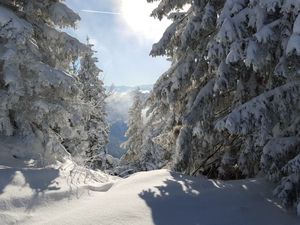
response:
<svg viewBox="0 0 300 225"><path fill-rule="evenodd" d="M34 160L5 158L6 163L0 160L1 225L23 224L40 209L80 199L91 191L106 192L118 179L69 160L37 168Z"/></svg>

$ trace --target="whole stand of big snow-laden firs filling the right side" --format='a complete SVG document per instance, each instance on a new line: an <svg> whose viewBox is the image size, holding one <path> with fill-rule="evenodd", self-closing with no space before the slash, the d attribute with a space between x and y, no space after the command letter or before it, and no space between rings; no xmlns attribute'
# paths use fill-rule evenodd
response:
<svg viewBox="0 0 300 225"><path fill-rule="evenodd" d="M140 163L224 179L262 171L299 203L299 11L296 0L161 0L152 16L173 23L151 55L172 65L146 104Z"/></svg>

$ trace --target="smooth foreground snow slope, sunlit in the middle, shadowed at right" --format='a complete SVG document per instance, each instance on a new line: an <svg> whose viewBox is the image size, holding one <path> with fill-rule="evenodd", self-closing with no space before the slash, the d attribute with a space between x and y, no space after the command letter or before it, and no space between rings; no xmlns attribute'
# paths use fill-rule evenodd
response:
<svg viewBox="0 0 300 225"><path fill-rule="evenodd" d="M0 224L300 224L295 214L286 212L270 196L272 187L260 179L220 182L157 170L134 174L109 187L72 198L45 198L44 203L33 202L30 207L26 203L5 208L1 193ZM5 220L9 216L10 220Z"/></svg>

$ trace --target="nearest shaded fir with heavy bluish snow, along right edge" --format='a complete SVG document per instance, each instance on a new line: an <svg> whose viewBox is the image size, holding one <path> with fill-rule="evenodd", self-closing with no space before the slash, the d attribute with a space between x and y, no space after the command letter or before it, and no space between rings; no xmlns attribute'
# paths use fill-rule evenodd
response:
<svg viewBox="0 0 300 225"><path fill-rule="evenodd" d="M217 81L237 100L216 127L241 140L239 170L280 182L286 205L299 202L299 12L299 1L226 1L210 57L227 65Z"/></svg>

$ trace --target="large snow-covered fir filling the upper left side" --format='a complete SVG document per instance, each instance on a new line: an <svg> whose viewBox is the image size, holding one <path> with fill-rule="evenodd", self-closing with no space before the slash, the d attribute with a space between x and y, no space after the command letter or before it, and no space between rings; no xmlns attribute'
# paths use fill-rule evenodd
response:
<svg viewBox="0 0 300 225"><path fill-rule="evenodd" d="M82 97L87 84L71 68L91 50L58 29L79 16L58 0L1 0L0 10L0 150L44 165L94 151L96 98Z"/></svg>

